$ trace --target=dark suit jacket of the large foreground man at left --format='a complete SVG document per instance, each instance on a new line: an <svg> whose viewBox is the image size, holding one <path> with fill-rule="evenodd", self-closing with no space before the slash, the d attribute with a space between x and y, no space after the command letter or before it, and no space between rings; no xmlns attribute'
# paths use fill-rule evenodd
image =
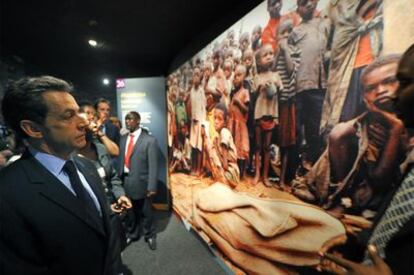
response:
<svg viewBox="0 0 414 275"><path fill-rule="evenodd" d="M28 151L0 171L0 274L96 274L112 271L109 209L94 165L75 157L99 200L103 227Z"/></svg>

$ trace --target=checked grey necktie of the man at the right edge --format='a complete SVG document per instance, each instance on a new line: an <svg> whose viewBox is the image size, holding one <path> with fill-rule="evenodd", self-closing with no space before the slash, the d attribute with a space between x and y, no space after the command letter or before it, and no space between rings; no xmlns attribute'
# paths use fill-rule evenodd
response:
<svg viewBox="0 0 414 275"><path fill-rule="evenodd" d="M398 187L384 215L375 227L369 244L377 247L379 255L385 257L385 248L388 242L395 236L414 216L414 167L405 176ZM370 263L368 255L365 255L365 263Z"/></svg>

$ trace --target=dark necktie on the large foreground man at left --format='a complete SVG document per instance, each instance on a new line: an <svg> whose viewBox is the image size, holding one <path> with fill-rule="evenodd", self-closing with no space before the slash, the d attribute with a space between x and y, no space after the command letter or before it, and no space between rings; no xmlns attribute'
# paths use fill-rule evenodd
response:
<svg viewBox="0 0 414 275"><path fill-rule="evenodd" d="M96 208L91 196L83 186L73 161L68 160L63 166L63 171L68 175L70 184L75 191L78 200L85 207L86 212L88 212L92 218L100 219L98 209Z"/></svg>

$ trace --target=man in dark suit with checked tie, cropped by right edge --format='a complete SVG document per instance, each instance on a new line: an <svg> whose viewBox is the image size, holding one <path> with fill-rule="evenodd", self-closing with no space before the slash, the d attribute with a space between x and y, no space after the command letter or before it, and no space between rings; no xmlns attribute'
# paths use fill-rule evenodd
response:
<svg viewBox="0 0 414 275"><path fill-rule="evenodd" d="M327 265L325 270L335 274L414 274L414 45L402 56L396 76L399 81L396 107L401 120L380 108L376 112L397 128L403 129L405 126L408 134L411 133L407 159L401 165L404 169L403 179L389 192L378 209L374 226L367 236L368 253L364 264L325 254L327 259L336 264ZM381 91L379 87L388 83L382 81L371 85Z"/></svg>

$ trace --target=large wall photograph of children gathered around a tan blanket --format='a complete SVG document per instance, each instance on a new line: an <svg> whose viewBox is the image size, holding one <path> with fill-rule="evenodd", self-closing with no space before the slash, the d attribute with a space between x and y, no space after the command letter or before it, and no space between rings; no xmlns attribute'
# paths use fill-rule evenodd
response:
<svg viewBox="0 0 414 275"><path fill-rule="evenodd" d="M174 210L234 273L364 258L407 152L382 115L400 58L383 14L381 0L264 1L168 76Z"/></svg>

